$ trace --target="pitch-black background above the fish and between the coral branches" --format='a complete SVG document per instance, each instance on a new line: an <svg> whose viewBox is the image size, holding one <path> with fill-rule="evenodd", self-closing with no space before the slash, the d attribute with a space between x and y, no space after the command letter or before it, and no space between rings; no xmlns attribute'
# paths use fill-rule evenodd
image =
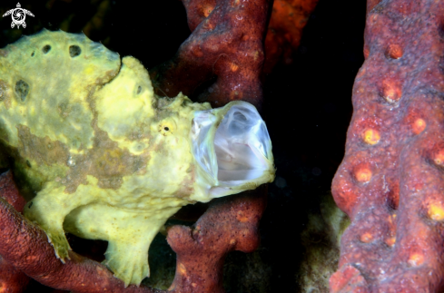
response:
<svg viewBox="0 0 444 293"><path fill-rule="evenodd" d="M0 14L15 8L16 1L2 0ZM178 0L20 3L35 17L27 16L27 27L20 30L11 29L10 16L0 17L0 47L44 27L79 33L89 25L92 40L121 56L133 55L150 69L172 58L190 34ZM262 115L271 135L277 181L270 184L261 220L261 249L253 260L240 252L227 259L228 292L301 290L296 278L305 251L300 234L308 213L318 212L321 197L330 191L343 157L352 84L363 63L365 5L365 0L320 0L292 63L284 61L265 76ZM97 17L101 12L102 19ZM166 245L162 237L156 241ZM252 269L247 265L257 267L261 284L234 277Z"/></svg>

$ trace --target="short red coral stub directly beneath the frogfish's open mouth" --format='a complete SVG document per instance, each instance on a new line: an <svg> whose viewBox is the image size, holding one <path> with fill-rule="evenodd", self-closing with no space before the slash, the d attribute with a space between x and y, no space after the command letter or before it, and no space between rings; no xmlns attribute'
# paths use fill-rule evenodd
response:
<svg viewBox="0 0 444 293"><path fill-rule="evenodd" d="M260 242L259 220L265 209L266 186L212 202L190 229L173 226L168 243L177 253L176 275L170 290L222 293L223 260L228 252L252 252ZM196 289L190 292L197 292Z"/></svg>

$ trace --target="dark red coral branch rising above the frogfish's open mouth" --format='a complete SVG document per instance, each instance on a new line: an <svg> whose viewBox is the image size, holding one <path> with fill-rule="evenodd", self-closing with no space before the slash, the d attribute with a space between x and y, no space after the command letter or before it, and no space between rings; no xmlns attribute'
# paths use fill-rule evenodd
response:
<svg viewBox="0 0 444 293"><path fill-rule="evenodd" d="M171 61L150 72L154 88L171 97L200 90L199 99L213 106L242 100L260 107L270 3L183 0L192 34Z"/></svg>

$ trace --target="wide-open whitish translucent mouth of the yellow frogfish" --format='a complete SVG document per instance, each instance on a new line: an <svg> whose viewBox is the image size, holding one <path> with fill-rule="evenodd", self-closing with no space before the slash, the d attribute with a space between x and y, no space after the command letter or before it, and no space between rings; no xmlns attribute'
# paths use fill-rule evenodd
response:
<svg viewBox="0 0 444 293"><path fill-rule="evenodd" d="M194 112L190 136L196 181L212 198L274 180L270 136L251 103Z"/></svg>

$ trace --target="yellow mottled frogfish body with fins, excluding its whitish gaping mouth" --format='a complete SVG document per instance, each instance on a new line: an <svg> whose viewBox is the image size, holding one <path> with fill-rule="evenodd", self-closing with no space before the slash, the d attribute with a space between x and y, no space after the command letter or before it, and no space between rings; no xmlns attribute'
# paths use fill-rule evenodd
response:
<svg viewBox="0 0 444 293"><path fill-rule="evenodd" d="M107 240L106 264L126 285L149 276L148 248L165 220L214 197L218 182L203 178L189 134L194 112L208 109L182 94L156 97L139 61L121 64L83 34L44 30L0 50L0 139L36 193L25 216L62 261L64 230ZM218 196L272 181L270 166Z"/></svg>

